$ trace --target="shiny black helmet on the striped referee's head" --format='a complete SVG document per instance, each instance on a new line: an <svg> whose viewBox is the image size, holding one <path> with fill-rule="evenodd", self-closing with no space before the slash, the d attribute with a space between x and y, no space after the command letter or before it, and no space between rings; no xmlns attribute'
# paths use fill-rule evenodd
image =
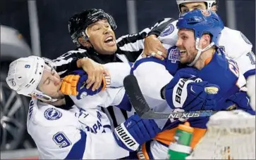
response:
<svg viewBox="0 0 256 160"><path fill-rule="evenodd" d="M88 37L85 33L85 29L92 23L104 18L108 20L111 28L115 30L117 26L114 18L108 13L105 13L102 9L92 8L73 15L70 20L68 20L68 31L69 34L71 34L73 43L80 46L78 37L84 36L85 39L87 39Z"/></svg>

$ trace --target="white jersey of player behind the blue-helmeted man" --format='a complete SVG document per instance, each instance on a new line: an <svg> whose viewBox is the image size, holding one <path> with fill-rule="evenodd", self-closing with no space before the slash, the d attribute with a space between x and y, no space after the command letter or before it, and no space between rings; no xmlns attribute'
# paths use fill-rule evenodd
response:
<svg viewBox="0 0 256 160"><path fill-rule="evenodd" d="M166 18L166 20L168 19L169 18ZM158 37L166 49L176 44L178 39L177 22L178 20L171 22ZM219 39L219 48L221 48L228 57L236 60L240 71L244 74L246 79L248 76L255 74L256 63L255 54L252 53L252 44L242 32L224 27Z"/></svg>

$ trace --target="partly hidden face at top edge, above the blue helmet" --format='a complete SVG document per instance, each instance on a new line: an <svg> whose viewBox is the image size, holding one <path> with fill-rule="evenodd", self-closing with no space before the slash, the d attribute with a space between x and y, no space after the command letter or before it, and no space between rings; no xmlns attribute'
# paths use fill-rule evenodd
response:
<svg viewBox="0 0 256 160"><path fill-rule="evenodd" d="M198 1L181 4L181 14L187 13L188 11L194 11L197 9L207 9L205 2Z"/></svg>

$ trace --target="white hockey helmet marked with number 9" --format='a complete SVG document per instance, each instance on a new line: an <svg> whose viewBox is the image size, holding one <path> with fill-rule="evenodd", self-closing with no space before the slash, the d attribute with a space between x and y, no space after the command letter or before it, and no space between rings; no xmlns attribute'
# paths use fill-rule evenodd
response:
<svg viewBox="0 0 256 160"><path fill-rule="evenodd" d="M34 55L28 58L19 58L9 65L6 82L18 94L51 101L53 100L51 97L37 90L46 67L43 58Z"/></svg>

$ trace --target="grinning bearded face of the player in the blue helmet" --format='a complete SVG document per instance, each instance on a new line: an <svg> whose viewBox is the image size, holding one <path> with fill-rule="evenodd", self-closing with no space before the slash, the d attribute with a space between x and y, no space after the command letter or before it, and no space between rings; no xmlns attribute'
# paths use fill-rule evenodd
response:
<svg viewBox="0 0 256 160"><path fill-rule="evenodd" d="M179 29L176 46L178 46L181 52L181 63L189 64L193 62L195 56L197 55L197 50L195 49L195 36L193 30Z"/></svg>

